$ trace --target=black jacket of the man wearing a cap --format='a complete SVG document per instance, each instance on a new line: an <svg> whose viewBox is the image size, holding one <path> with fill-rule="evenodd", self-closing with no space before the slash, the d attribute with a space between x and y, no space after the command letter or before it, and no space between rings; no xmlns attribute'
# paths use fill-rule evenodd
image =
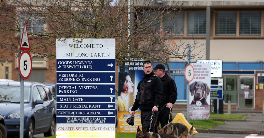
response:
<svg viewBox="0 0 264 138"><path fill-rule="evenodd" d="M160 106L163 107L163 105L167 104L168 102L174 104L178 96L175 81L170 78L167 73L165 73L165 75L160 78L160 80L163 83L163 96Z"/></svg>

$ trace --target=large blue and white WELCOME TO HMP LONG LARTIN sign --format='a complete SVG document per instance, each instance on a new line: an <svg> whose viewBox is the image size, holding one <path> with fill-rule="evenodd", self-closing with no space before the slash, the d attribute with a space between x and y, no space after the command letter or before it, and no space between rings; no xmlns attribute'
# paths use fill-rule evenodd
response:
<svg viewBox="0 0 264 138"><path fill-rule="evenodd" d="M115 137L115 39L57 39L57 137Z"/></svg>

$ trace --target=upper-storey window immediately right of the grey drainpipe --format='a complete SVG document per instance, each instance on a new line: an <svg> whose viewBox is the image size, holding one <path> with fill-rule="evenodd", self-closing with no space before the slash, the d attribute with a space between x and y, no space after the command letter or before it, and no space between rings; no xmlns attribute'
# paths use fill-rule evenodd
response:
<svg viewBox="0 0 264 138"><path fill-rule="evenodd" d="M215 35L236 35L236 12L216 12Z"/></svg>

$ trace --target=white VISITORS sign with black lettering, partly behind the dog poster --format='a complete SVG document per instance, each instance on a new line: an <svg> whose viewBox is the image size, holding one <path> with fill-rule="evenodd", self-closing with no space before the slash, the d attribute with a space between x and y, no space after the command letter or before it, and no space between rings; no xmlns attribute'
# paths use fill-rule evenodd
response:
<svg viewBox="0 0 264 138"><path fill-rule="evenodd" d="M211 78L221 78L223 72L222 60L196 60L196 63L205 63L211 65Z"/></svg>

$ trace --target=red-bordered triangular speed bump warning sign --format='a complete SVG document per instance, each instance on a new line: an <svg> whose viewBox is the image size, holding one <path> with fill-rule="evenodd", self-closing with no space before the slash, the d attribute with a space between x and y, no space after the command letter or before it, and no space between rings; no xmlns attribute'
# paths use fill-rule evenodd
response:
<svg viewBox="0 0 264 138"><path fill-rule="evenodd" d="M24 27L23 27L23 32L22 32L22 37L21 37L19 49L20 50L30 50L30 44L29 44L29 39L28 39L28 29L27 29L26 21L24 22Z"/></svg>

